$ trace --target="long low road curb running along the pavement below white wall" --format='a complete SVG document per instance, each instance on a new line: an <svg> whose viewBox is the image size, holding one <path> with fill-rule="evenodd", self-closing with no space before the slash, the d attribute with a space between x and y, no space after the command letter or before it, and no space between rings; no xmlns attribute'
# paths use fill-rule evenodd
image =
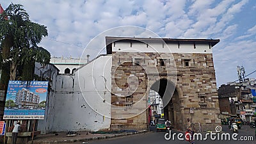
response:
<svg viewBox="0 0 256 144"><path fill-rule="evenodd" d="M108 138L116 138L120 136L129 136L132 134L142 134L148 132L147 130L144 131L138 131L138 132L126 132L122 134L112 134L109 136L97 136L93 138L82 138L82 139L72 139L72 140L58 140L58 141L33 141L33 144L56 144L56 143L74 143L77 141L86 142L86 141L92 141L92 140L104 140ZM29 141L31 143L31 141Z"/></svg>

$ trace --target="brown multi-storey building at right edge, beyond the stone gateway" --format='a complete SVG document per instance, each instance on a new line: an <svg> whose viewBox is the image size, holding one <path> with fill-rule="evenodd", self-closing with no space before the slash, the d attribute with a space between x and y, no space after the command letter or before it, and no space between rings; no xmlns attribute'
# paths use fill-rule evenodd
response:
<svg viewBox="0 0 256 144"><path fill-rule="evenodd" d="M239 83L222 84L218 89L220 112L224 115L221 119L229 116L238 116L244 122L252 122L255 116L256 103L253 102L252 89L256 88L253 78L244 79Z"/></svg>

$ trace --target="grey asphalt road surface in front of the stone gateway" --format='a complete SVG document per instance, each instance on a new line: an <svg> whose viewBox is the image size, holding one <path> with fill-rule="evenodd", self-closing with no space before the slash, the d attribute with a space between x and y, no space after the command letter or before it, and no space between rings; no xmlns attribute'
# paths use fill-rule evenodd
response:
<svg viewBox="0 0 256 144"><path fill-rule="evenodd" d="M255 135L254 135L254 131L255 129L251 129L250 127L248 127L247 125L243 126L242 129L239 129L239 133L238 136L236 137L237 140L232 140L232 132L228 129L227 126L223 126L223 131L228 134L230 134L230 140L221 140L221 135L220 135L220 140L211 140L211 136L207 136L207 140L196 140L195 144L217 144L217 143L225 143L225 144L255 144L256 140L255 140ZM179 132L176 132L177 134ZM182 144L182 143L186 143L188 144L189 142L186 140L180 141L177 138L177 135L175 136L175 140L165 140L164 139L164 134L165 132L156 132L156 131L152 131L152 132L148 132L146 134L136 134L136 135L131 135L131 136L125 136L125 137L119 137L119 138L112 138L112 139L106 139L106 140L95 140L95 141L84 141L84 143L88 143L88 144L157 144L157 143L177 143L177 144ZM205 138L205 133L202 133L202 135L204 136L203 138ZM251 137L249 137L251 136ZM224 137L225 138L225 137ZM249 138L253 138L253 141L242 141L240 139L249 139ZM218 135L216 136L216 139L218 139ZM77 143L73 143L73 144L81 144L83 142L77 142ZM71 143L69 143L71 144Z"/></svg>

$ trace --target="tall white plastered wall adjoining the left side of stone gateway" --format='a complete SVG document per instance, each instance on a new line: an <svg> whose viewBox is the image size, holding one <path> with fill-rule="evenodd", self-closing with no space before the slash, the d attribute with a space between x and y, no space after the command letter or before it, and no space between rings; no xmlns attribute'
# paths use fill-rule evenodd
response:
<svg viewBox="0 0 256 144"><path fill-rule="evenodd" d="M111 55L99 56L74 75L56 76L42 129L46 133L109 129L111 65Z"/></svg>

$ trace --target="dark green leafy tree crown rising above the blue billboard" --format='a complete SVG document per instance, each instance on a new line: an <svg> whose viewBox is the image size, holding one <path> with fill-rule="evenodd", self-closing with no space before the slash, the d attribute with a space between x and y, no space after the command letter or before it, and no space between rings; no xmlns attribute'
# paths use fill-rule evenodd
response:
<svg viewBox="0 0 256 144"><path fill-rule="evenodd" d="M7 19L6 19L7 18ZM21 4L10 4L0 15L1 69L8 63L10 80L32 80L35 61L43 65L49 63L51 54L38 47L43 36L47 36L44 25L29 20L29 15ZM20 68L21 67L21 68Z"/></svg>

